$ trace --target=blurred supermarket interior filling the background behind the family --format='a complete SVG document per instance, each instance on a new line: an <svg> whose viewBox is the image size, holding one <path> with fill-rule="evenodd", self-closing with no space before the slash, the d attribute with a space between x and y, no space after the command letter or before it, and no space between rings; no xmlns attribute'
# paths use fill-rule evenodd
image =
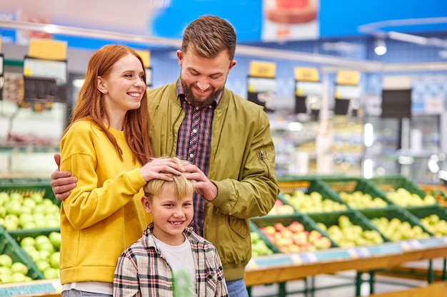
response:
<svg viewBox="0 0 447 297"><path fill-rule="evenodd" d="M263 106L276 152L249 296L447 296L447 2L367 2L0 0L0 297L61 295L50 175L91 55L134 48L159 88L206 14L235 29L225 86Z"/></svg>

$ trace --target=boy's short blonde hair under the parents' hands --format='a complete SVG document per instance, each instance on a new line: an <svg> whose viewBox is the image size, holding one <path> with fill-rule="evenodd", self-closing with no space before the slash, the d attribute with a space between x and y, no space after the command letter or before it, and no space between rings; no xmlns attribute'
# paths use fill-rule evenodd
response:
<svg viewBox="0 0 447 297"><path fill-rule="evenodd" d="M186 162L180 160L177 157L171 157L171 160L181 165L182 162ZM152 199L154 196L160 196L161 192L164 192L168 189L174 190L174 196L177 200L183 199L184 197L189 197L194 194L194 180L187 179L186 173L182 172L179 175L171 174L169 172L161 172L166 174L166 176L171 177L173 179L171 182L168 182L164 179L151 179L144 186L144 195L148 197L148 199Z"/></svg>

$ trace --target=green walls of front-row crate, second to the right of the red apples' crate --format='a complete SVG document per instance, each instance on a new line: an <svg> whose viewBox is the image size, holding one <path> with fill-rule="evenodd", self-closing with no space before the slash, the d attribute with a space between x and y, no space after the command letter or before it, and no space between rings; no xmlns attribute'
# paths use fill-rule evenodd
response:
<svg viewBox="0 0 447 297"><path fill-rule="evenodd" d="M429 236L433 236L433 234L424 227L419 221L418 217L412 214L408 209L403 207L393 206L388 209L361 209L359 212L363 214L363 216L367 217L370 221L374 218L385 217L388 220L393 218L397 218L401 220L401 222L408 222L411 227L420 226L421 229L426 232ZM371 223L372 224L372 223ZM385 235L384 235L385 236ZM388 236L386 236L388 237ZM390 239L390 238L388 238ZM391 240L391 239L390 239Z"/></svg>

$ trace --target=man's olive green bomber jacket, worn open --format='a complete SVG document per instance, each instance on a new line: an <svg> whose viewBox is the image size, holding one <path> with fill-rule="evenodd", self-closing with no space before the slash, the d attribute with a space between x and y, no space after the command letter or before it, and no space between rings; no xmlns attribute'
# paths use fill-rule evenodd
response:
<svg viewBox="0 0 447 297"><path fill-rule="evenodd" d="M149 90L148 100L155 155L174 156L185 115L177 84ZM266 113L228 89L214 111L208 177L219 194L206 203L204 237L219 251L226 281L244 278L251 258L248 219L266 215L279 188Z"/></svg>

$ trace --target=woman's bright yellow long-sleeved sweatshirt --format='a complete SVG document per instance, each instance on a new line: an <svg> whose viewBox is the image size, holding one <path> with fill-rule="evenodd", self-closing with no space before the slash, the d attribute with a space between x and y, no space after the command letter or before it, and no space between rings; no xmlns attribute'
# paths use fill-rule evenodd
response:
<svg viewBox="0 0 447 297"><path fill-rule="evenodd" d="M146 182L124 132L109 129L123 150L87 120L71 126L61 140L61 170L78 178L61 204L61 284L114 281L118 257L141 237L151 216L141 205Z"/></svg>

